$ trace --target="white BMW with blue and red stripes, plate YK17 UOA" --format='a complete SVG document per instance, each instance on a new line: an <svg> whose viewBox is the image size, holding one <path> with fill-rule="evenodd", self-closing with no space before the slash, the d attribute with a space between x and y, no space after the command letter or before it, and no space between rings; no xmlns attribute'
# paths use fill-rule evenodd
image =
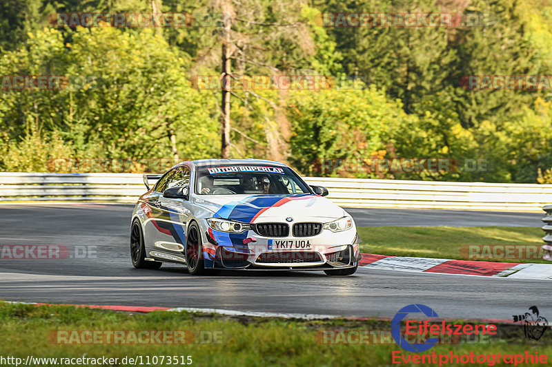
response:
<svg viewBox="0 0 552 367"><path fill-rule="evenodd" d="M150 188L149 180L158 179ZM144 175L148 192L132 213L130 257L136 268L186 264L216 269L325 271L351 275L360 260L353 218L270 160L181 162ZM213 270L211 270L213 269Z"/></svg>

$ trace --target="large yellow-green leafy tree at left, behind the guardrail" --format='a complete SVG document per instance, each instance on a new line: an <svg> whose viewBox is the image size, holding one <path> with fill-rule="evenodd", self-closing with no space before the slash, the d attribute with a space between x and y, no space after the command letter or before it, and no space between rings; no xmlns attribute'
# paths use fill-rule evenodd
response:
<svg viewBox="0 0 552 367"><path fill-rule="evenodd" d="M77 157L167 157L174 129L182 156L213 156L217 114L208 112L215 100L190 87L186 54L150 29L79 28L71 38L64 43L61 32L46 29L0 58L1 75L68 78L63 90L1 94L6 139L26 136L32 125L34 132L60 134Z"/></svg>

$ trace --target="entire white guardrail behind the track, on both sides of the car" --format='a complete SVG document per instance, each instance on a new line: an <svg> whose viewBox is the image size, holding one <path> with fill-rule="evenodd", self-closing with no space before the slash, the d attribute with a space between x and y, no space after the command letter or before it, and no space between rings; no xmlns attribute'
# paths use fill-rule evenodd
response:
<svg viewBox="0 0 552 367"><path fill-rule="evenodd" d="M542 211L552 185L306 177L342 207ZM0 173L0 202L135 202L141 174Z"/></svg>

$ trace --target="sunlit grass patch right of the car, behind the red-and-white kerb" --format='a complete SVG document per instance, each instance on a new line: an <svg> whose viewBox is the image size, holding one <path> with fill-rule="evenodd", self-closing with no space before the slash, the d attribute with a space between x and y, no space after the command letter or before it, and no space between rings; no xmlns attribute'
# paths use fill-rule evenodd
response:
<svg viewBox="0 0 552 367"><path fill-rule="evenodd" d="M456 260L484 260L495 262L549 263L539 253L519 256L520 248L510 248L513 253L481 248L470 256L469 245L534 245L540 249L544 232L538 227L357 227L364 253L380 255L416 256ZM534 249L534 247L533 247ZM491 251L484 253L483 251ZM481 252L480 252L481 251ZM539 250L540 251L540 250ZM491 255L477 258L474 255ZM512 257L512 255L514 257Z"/></svg>

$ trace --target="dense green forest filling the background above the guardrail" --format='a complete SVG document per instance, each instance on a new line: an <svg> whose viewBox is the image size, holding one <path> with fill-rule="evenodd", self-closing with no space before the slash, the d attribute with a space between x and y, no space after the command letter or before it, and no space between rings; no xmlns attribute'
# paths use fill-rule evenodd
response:
<svg viewBox="0 0 552 367"><path fill-rule="evenodd" d="M52 13L156 9L197 21L183 28L49 22ZM325 12L485 21L332 28L320 21ZM473 75L552 75L552 3L540 0L3 0L0 75L60 75L69 84L0 90L0 169L86 171L79 161L120 158L135 161L126 170L139 172L147 170L143 158L219 157L221 93L198 88L197 79L221 74L224 27L201 14L222 13L236 76L335 81L317 90L233 90L233 158L282 160L306 175L552 182L551 88L474 91L460 83ZM357 169L359 162L404 158L455 164ZM70 164L52 165L60 160Z"/></svg>

